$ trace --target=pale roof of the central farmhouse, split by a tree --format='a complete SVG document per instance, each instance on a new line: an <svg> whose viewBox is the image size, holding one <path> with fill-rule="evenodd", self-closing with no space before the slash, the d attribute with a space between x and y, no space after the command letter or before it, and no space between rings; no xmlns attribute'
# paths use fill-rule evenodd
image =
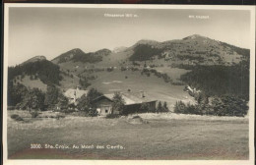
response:
<svg viewBox="0 0 256 165"><path fill-rule="evenodd" d="M121 95L122 95L122 98L124 99L125 105L141 104L144 102L157 101L154 99L150 99L149 96L147 96L145 93L142 93L142 92L122 92ZM144 95L144 97L142 97L142 95ZM102 97L106 97L107 99L112 101L114 97L114 93L103 94L102 96L96 99L99 99Z"/></svg>

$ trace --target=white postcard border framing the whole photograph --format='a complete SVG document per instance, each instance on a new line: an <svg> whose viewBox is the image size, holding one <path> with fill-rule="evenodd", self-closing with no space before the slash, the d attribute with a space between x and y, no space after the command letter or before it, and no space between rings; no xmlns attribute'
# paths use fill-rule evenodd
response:
<svg viewBox="0 0 256 165"><path fill-rule="evenodd" d="M10 160L7 158L7 69L8 69L8 33L10 7L52 7L52 8L123 8L123 9L205 9L205 10L249 10L251 12L250 38L250 100L249 100L249 160ZM3 86L3 151L5 165L40 164L173 164L173 165L252 165L254 164L254 110L255 110L255 6L210 6L210 5L109 5L109 4L19 4L6 3L4 6L4 86Z"/></svg>

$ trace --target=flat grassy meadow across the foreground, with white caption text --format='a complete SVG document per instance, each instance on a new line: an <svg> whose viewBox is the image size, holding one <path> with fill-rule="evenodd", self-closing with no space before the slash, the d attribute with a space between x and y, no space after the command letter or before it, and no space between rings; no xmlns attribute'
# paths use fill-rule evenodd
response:
<svg viewBox="0 0 256 165"><path fill-rule="evenodd" d="M24 121L11 119L12 114ZM32 119L27 111L8 111L8 157L233 160L248 159L249 155L248 118L146 113L139 114L142 124L127 122L129 117L47 118L56 115L43 112ZM32 149L31 144L42 148ZM44 148L45 144L69 148ZM74 144L80 147L73 148Z"/></svg>

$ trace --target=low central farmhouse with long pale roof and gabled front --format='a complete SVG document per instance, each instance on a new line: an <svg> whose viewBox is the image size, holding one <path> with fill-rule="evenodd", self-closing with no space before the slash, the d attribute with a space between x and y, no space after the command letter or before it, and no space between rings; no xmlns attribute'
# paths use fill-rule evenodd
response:
<svg viewBox="0 0 256 165"><path fill-rule="evenodd" d="M100 116L106 116L111 113L119 114L119 112L112 109L113 96L114 93L103 94L93 101L93 104L96 105L96 111ZM156 110L157 100L150 99L143 91L122 92L121 96L125 102L126 114L138 112L144 103L148 104L150 111Z"/></svg>

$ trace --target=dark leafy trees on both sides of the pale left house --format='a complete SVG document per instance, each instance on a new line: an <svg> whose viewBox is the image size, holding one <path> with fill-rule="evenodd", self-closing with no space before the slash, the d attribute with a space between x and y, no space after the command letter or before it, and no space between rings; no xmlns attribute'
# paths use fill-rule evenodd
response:
<svg viewBox="0 0 256 165"><path fill-rule="evenodd" d="M48 85L47 91L42 92L38 88L27 88L23 84L15 85L13 90L8 90L8 106L16 109L30 111L55 110L67 112L69 100L54 85ZM92 101L102 95L95 88L91 88L88 94L84 94L77 104L77 109L85 116L96 116L96 107Z"/></svg>

